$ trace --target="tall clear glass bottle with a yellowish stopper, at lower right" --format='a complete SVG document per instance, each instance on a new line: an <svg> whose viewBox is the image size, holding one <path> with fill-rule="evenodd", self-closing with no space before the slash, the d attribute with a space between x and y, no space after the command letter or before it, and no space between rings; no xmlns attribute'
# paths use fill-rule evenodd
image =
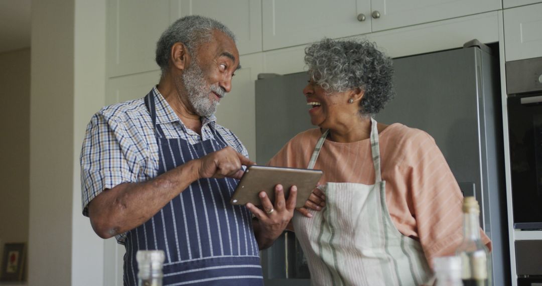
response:
<svg viewBox="0 0 542 286"><path fill-rule="evenodd" d="M480 238L480 206L474 197L463 200L463 242L455 253L461 258L461 279L465 286L491 285L489 252Z"/></svg>

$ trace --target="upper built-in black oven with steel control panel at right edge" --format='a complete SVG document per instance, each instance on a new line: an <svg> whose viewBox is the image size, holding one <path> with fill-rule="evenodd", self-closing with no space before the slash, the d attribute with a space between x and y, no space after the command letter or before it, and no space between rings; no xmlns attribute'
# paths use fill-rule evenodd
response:
<svg viewBox="0 0 542 286"><path fill-rule="evenodd" d="M542 229L542 57L506 63L514 228Z"/></svg>

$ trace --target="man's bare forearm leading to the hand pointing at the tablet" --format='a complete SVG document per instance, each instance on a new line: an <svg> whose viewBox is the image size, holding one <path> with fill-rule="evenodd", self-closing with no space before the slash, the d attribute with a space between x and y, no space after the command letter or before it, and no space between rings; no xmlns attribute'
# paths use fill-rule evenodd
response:
<svg viewBox="0 0 542 286"><path fill-rule="evenodd" d="M197 160L143 183L125 183L101 192L88 206L94 231L102 238L145 223L198 179Z"/></svg>

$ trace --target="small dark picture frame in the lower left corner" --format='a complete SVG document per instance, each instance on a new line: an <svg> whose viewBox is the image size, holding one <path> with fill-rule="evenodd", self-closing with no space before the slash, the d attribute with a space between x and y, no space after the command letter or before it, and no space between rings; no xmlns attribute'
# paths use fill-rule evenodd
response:
<svg viewBox="0 0 542 286"><path fill-rule="evenodd" d="M0 281L23 281L26 244L24 242L4 244Z"/></svg>

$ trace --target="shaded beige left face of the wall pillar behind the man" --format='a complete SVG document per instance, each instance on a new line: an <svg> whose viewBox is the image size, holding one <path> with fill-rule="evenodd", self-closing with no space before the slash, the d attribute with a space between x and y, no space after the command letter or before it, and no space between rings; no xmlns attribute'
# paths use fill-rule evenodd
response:
<svg viewBox="0 0 542 286"><path fill-rule="evenodd" d="M74 1L31 7L29 285L71 284Z"/></svg>

